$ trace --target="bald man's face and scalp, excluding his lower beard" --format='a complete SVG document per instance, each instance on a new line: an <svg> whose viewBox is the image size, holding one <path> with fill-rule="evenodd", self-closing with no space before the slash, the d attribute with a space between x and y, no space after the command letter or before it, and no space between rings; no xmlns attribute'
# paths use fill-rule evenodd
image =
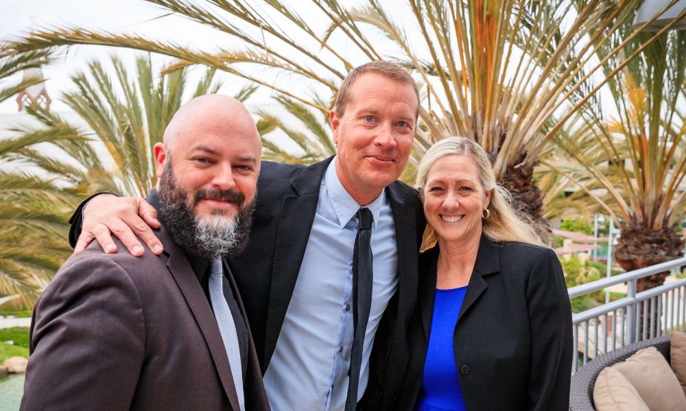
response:
<svg viewBox="0 0 686 411"><path fill-rule="evenodd" d="M191 101L154 148L158 178L167 160L179 190L198 219L233 219L252 203L260 169L261 142L245 108L229 97Z"/></svg>

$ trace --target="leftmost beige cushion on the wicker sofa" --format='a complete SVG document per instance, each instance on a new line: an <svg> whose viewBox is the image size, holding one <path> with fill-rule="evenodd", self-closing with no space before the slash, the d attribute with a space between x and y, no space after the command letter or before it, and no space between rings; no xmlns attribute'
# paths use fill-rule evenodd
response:
<svg viewBox="0 0 686 411"><path fill-rule="evenodd" d="M636 388L613 368L600 371L593 388L595 411L650 411Z"/></svg>

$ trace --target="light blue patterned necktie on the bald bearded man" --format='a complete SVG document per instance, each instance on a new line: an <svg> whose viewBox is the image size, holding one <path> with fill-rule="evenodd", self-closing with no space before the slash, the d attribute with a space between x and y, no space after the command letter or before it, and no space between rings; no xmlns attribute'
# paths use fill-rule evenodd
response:
<svg viewBox="0 0 686 411"><path fill-rule="evenodd" d="M212 310L214 310L215 319L217 319L217 325L219 325L219 331L222 334L222 340L224 340L228 365L231 367L233 384L236 386L238 404L241 411L245 411L241 347L238 345L238 334L236 333L236 324L233 322L233 315L231 315L231 310L228 308L228 303L226 303L224 298L224 269L222 257L220 256L216 256L212 260L209 289Z"/></svg>

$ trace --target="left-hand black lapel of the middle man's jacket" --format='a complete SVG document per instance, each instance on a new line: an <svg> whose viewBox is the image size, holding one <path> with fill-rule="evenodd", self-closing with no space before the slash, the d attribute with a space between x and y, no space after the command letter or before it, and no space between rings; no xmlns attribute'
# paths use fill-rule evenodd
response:
<svg viewBox="0 0 686 411"><path fill-rule="evenodd" d="M281 325L296 286L300 264L303 263L307 240L317 211L322 177L330 162L331 158L303 169L291 182L296 195L284 197L281 205L279 227L274 243L263 373L272 359L276 340L279 339Z"/></svg>

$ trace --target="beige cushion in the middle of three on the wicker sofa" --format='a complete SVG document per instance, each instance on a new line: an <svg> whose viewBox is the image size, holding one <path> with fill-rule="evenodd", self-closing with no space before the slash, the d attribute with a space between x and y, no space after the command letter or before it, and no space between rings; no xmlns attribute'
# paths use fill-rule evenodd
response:
<svg viewBox="0 0 686 411"><path fill-rule="evenodd" d="M655 347L639 349L611 368L628 379L650 410L686 411L686 395L670 364Z"/></svg>

